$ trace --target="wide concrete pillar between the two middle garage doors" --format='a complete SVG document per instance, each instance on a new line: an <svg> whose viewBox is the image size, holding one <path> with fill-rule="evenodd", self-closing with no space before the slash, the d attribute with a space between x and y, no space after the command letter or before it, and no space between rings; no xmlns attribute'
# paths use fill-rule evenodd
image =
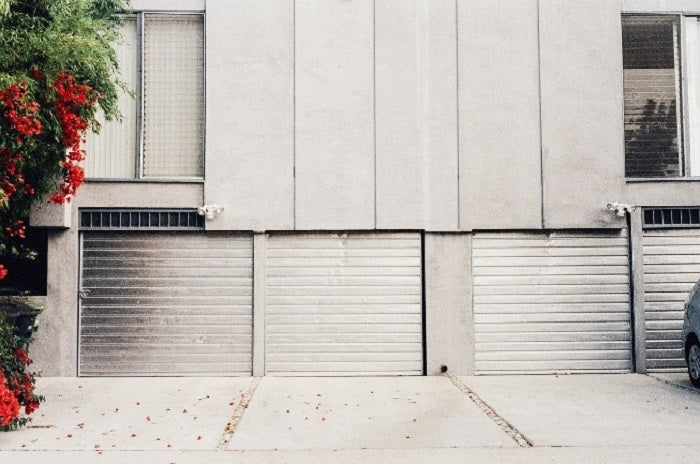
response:
<svg viewBox="0 0 700 464"><path fill-rule="evenodd" d="M474 373L470 234L425 235L427 374Z"/></svg>

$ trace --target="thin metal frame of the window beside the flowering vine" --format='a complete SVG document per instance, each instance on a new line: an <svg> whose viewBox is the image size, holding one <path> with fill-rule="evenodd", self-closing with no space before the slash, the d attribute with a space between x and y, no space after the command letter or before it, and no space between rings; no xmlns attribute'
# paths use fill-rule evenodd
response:
<svg viewBox="0 0 700 464"><path fill-rule="evenodd" d="M202 57L202 91L204 95L204 101L202 105L202 126L204 131L202 134L202 153L201 153L201 176L144 176L144 112L145 112L145 99L143 98L143 90L145 88L145 28L146 21L145 16L151 15L162 15L162 16L199 16L202 20L202 43L204 46L203 57ZM124 183L203 183L206 178L206 137L207 137L207 47L206 47L206 37L207 37L207 22L206 14L202 10L196 11L186 11L186 10L139 10L133 11L129 14L123 15L124 19L134 19L136 22L136 65L137 65L137 82L138 88L133 89L134 98L137 99L136 102L136 152L133 154L135 157L135 169L133 177L87 177L86 182L124 182ZM88 156L90 154L88 153Z"/></svg>

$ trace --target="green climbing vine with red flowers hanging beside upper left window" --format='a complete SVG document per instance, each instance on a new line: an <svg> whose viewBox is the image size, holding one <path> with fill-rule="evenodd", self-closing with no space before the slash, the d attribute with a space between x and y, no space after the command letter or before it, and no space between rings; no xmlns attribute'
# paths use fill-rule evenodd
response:
<svg viewBox="0 0 700 464"><path fill-rule="evenodd" d="M88 129L118 117L112 45L125 0L0 0L0 279L35 202L69 202L85 179Z"/></svg>

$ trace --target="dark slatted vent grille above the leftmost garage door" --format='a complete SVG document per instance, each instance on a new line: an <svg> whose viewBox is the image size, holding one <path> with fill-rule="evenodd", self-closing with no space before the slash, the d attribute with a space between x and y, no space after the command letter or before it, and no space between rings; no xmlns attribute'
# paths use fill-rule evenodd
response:
<svg viewBox="0 0 700 464"><path fill-rule="evenodd" d="M80 210L81 230L204 230L204 216L190 209Z"/></svg>

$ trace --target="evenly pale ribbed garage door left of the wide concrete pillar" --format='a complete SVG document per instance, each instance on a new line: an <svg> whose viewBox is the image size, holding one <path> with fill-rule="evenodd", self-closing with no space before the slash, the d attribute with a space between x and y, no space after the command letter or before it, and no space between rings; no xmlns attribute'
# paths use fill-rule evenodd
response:
<svg viewBox="0 0 700 464"><path fill-rule="evenodd" d="M421 238L273 235L267 241L270 375L420 375Z"/></svg>

